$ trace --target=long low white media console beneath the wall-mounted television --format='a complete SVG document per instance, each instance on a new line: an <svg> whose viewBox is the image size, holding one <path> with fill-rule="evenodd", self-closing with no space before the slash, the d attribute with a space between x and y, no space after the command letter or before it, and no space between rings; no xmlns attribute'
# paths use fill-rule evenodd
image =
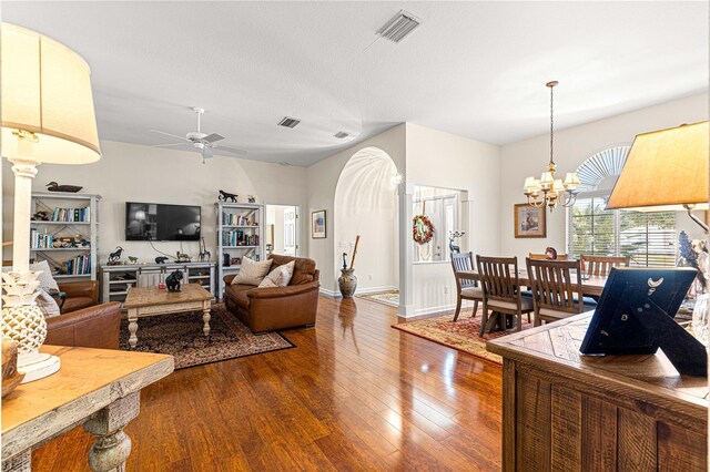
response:
<svg viewBox="0 0 710 472"><path fill-rule="evenodd" d="M131 287L153 287L175 270L182 271L183 284L200 284L216 295L215 263L121 264L101 266L101 302L125 300Z"/></svg>

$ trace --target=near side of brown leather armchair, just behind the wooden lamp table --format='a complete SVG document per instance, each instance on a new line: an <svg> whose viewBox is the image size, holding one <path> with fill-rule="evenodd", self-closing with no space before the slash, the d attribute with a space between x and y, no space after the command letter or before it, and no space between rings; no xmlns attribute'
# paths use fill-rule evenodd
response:
<svg viewBox="0 0 710 472"><path fill-rule="evenodd" d="M121 304L97 305L47 319L44 343L97 349L119 349Z"/></svg>

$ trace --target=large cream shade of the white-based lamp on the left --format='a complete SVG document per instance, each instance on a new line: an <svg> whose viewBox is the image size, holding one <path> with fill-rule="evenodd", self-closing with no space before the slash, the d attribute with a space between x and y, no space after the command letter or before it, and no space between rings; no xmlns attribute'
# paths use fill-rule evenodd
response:
<svg viewBox="0 0 710 472"><path fill-rule="evenodd" d="M84 60L59 42L2 23L2 155L50 164L101 158Z"/></svg>

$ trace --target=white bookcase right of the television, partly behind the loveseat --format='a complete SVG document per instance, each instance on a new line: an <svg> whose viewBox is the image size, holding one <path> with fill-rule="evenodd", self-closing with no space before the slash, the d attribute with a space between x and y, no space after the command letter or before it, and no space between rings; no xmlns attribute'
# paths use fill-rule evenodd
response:
<svg viewBox="0 0 710 472"><path fill-rule="evenodd" d="M264 205L255 203L215 204L217 209L217 299L223 299L224 276L237 274L240 264L224 265L224 254L230 259L264 258Z"/></svg>

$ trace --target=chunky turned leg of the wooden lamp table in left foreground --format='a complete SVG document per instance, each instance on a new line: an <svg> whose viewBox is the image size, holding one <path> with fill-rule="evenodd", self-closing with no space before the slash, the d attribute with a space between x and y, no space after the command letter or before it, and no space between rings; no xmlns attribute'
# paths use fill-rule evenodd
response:
<svg viewBox="0 0 710 472"><path fill-rule="evenodd" d="M89 466L97 472L124 472L131 454L131 438L123 428L140 410L140 392L118 399L89 417L84 431L97 437L89 450Z"/></svg>

